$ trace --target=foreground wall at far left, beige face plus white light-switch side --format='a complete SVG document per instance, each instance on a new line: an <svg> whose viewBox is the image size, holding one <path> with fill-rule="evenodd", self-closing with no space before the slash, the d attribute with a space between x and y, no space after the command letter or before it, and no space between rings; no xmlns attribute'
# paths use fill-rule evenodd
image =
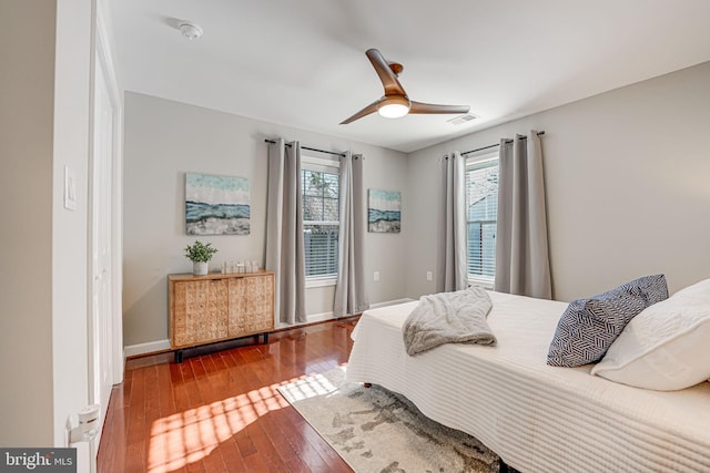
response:
<svg viewBox="0 0 710 473"><path fill-rule="evenodd" d="M0 445L63 446L89 400L92 0L0 2ZM63 208L64 166L77 208ZM82 453L83 452L83 453ZM80 471L88 467L80 449Z"/></svg>

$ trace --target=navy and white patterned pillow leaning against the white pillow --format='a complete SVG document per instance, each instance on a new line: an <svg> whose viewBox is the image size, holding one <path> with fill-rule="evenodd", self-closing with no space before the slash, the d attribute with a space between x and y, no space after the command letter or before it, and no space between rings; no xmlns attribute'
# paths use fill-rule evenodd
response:
<svg viewBox="0 0 710 473"><path fill-rule="evenodd" d="M633 317L663 299L668 299L666 276L655 275L571 301L557 323L547 364L580 367L599 361Z"/></svg>

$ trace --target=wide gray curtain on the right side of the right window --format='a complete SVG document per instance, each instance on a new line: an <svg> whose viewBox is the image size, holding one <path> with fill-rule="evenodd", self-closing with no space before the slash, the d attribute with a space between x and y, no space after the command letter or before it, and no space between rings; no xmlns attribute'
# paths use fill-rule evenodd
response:
<svg viewBox="0 0 710 473"><path fill-rule="evenodd" d="M550 299L542 147L536 131L500 141L495 290Z"/></svg>

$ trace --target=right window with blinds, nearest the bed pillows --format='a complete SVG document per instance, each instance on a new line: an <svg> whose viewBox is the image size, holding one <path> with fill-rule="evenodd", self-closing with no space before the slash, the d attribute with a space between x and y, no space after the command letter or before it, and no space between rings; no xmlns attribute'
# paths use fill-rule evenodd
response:
<svg viewBox="0 0 710 473"><path fill-rule="evenodd" d="M466 164L466 237L468 278L493 282L496 270L498 154Z"/></svg>

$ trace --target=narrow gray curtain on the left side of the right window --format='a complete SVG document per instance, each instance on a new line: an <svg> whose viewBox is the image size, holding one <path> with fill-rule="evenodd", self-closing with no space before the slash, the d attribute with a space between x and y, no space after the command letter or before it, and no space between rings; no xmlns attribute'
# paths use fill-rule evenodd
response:
<svg viewBox="0 0 710 473"><path fill-rule="evenodd" d="M468 287L466 257L466 158L454 152L442 160L442 194L436 290Z"/></svg>

